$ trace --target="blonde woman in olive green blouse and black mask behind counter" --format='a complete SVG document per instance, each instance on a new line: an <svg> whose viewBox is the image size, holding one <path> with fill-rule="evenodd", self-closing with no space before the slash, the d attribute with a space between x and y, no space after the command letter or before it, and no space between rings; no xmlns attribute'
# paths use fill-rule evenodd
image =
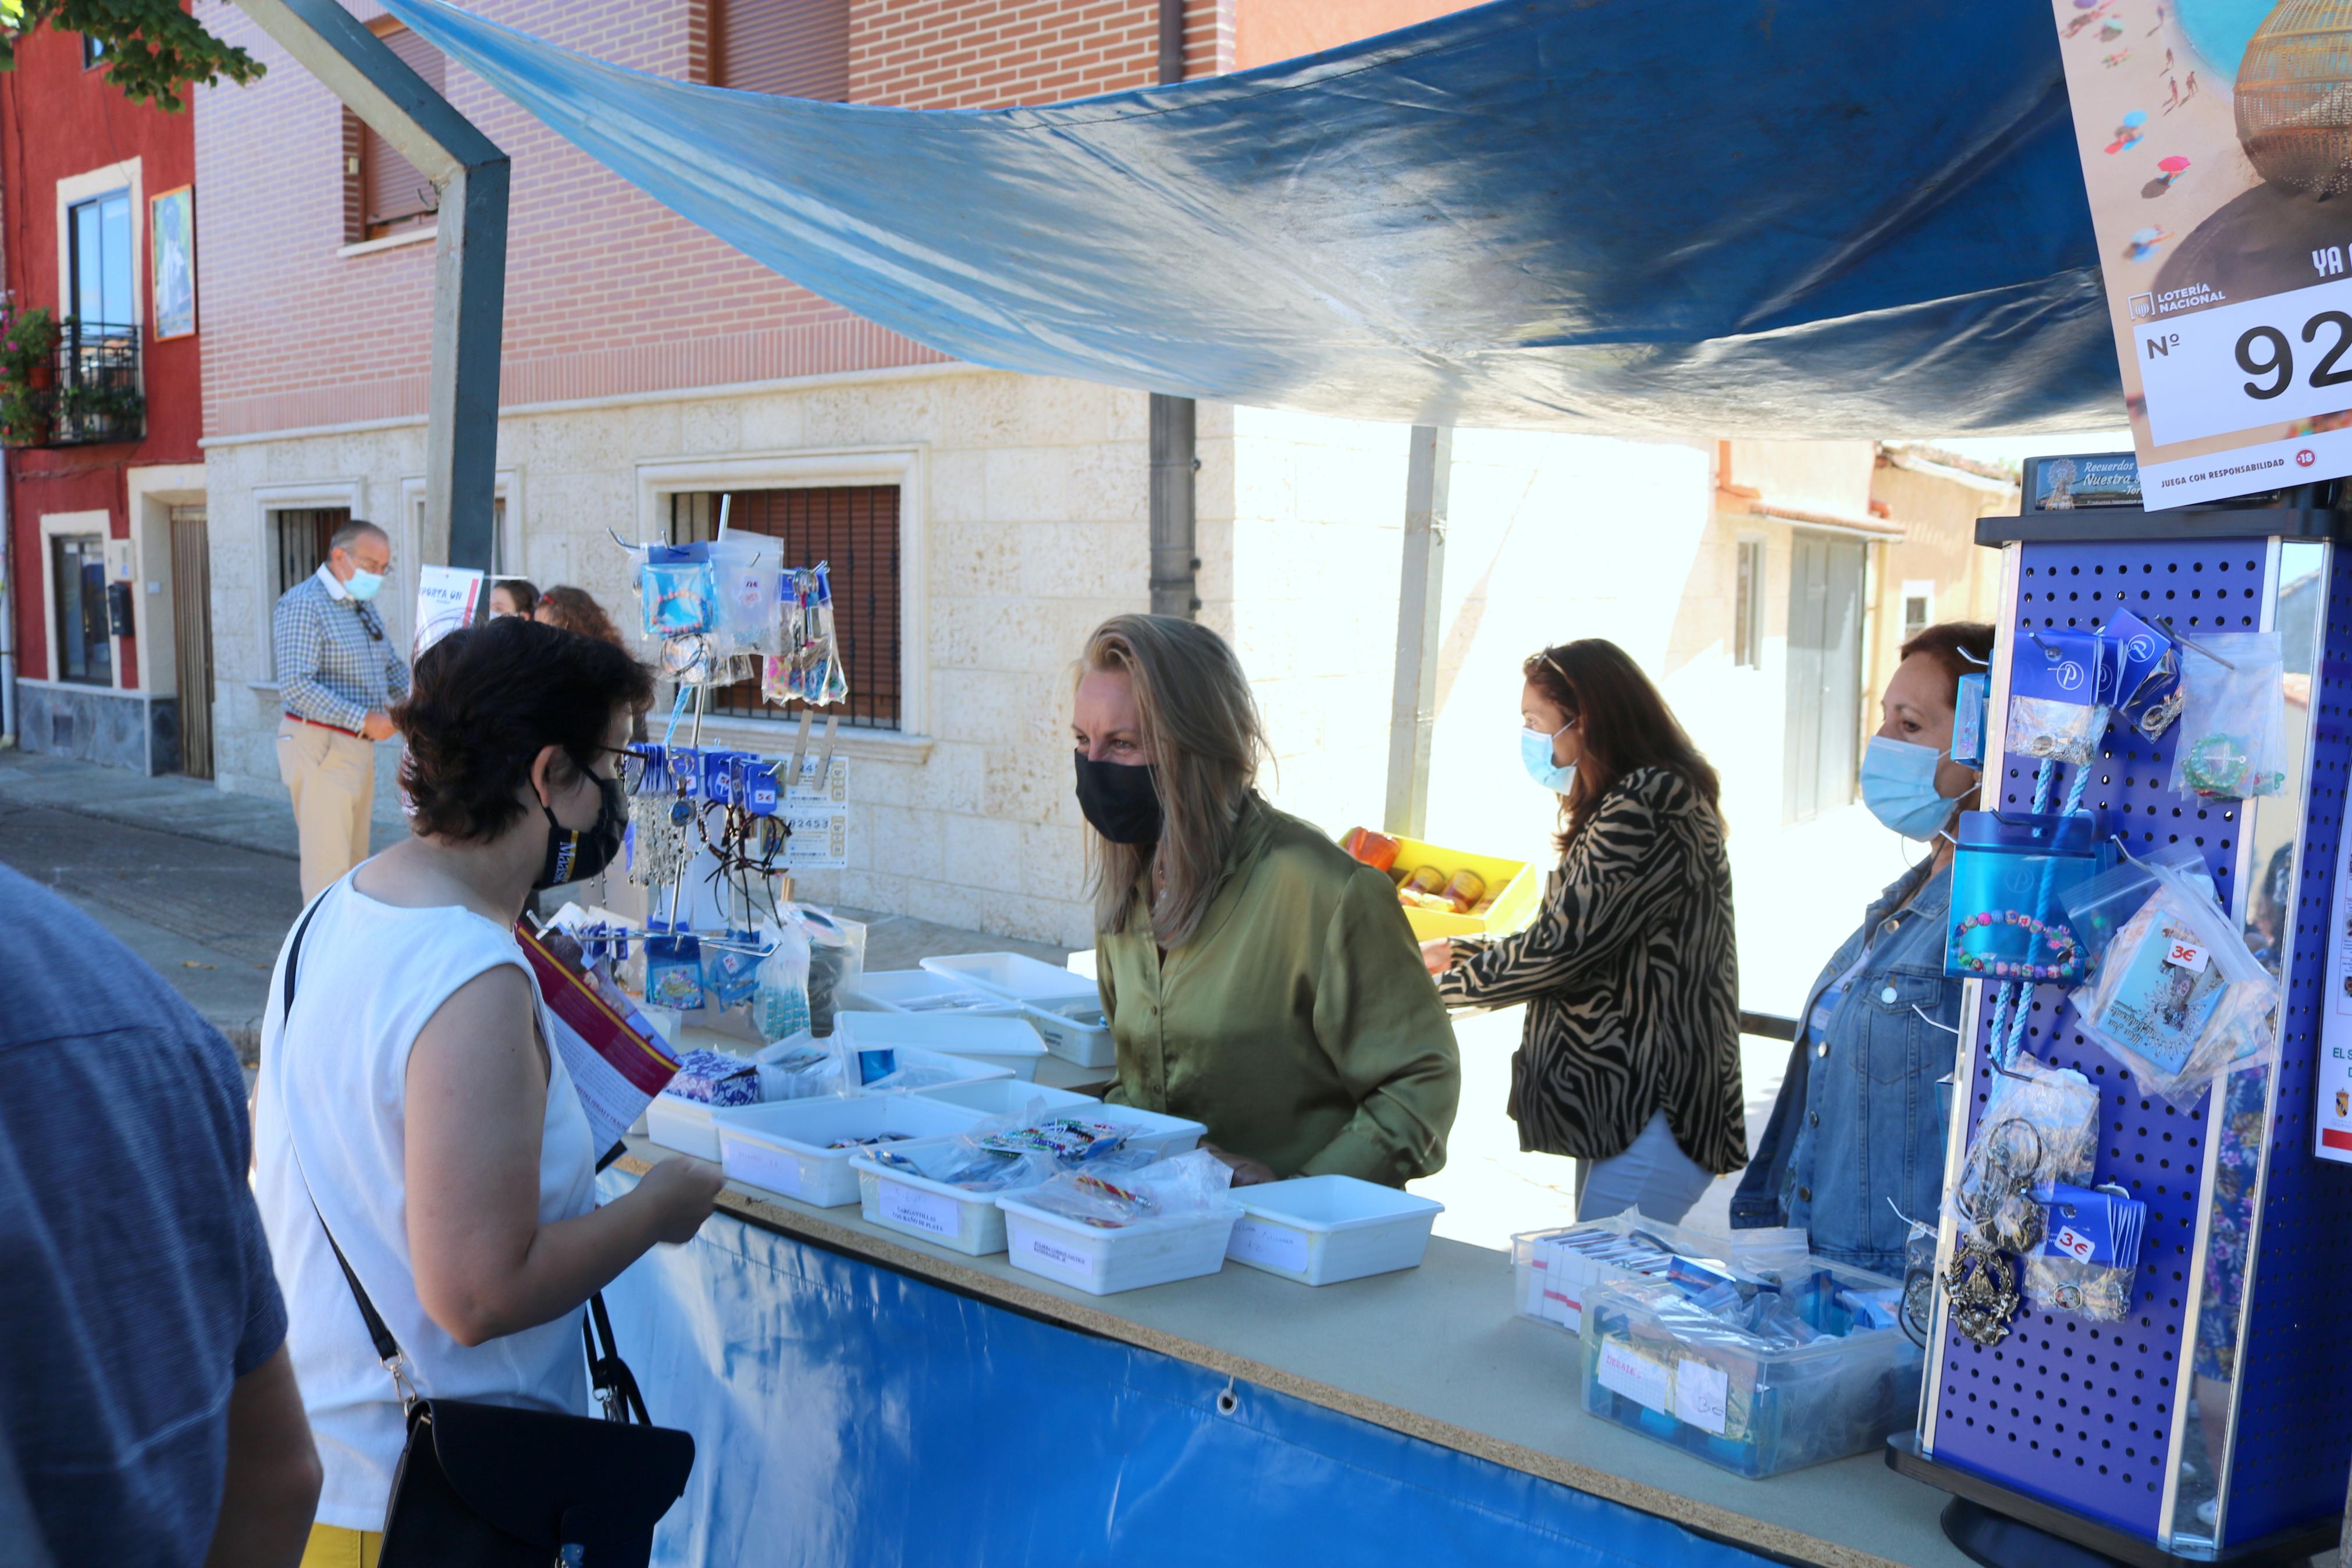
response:
<svg viewBox="0 0 2352 1568"><path fill-rule="evenodd" d="M1207 1124L1235 1182L1446 1159L1461 1060L1388 877L1251 788L1265 748L1223 639L1115 616L1073 733L1110 1100Z"/></svg>

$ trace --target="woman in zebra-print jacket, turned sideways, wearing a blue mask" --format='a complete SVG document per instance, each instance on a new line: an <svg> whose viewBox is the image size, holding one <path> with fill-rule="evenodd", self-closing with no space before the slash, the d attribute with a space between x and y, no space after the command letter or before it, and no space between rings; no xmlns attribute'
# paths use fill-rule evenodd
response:
<svg viewBox="0 0 2352 1568"><path fill-rule="evenodd" d="M1559 870L1517 936L1423 957L1449 1006L1526 1004L1510 1114L1522 1150L1578 1161L1578 1218L1675 1222L1748 1161L1715 769L1613 642L1522 672L1522 755L1559 795Z"/></svg>

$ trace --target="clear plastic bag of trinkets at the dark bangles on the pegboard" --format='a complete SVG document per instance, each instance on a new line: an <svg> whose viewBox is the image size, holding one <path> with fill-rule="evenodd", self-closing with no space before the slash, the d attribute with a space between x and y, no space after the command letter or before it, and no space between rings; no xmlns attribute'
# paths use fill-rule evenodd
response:
<svg viewBox="0 0 2352 1568"><path fill-rule="evenodd" d="M1962 1234L2004 1253L2042 1246L2049 1218L2034 1187L2089 1185L2098 1164L2098 1091L2072 1067L2018 1056L1992 1074L1945 1208Z"/></svg>

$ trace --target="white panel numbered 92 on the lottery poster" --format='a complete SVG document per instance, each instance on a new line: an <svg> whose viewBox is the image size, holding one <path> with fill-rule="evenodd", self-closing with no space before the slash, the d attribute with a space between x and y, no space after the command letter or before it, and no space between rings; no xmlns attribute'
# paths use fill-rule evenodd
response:
<svg viewBox="0 0 2352 1568"><path fill-rule="evenodd" d="M2131 343L2159 444L2352 409L2352 277L2133 322Z"/></svg>

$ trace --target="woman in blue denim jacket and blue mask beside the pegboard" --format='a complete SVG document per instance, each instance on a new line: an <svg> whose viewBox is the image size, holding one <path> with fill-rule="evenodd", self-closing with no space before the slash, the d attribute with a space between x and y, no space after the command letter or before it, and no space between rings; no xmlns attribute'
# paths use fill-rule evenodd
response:
<svg viewBox="0 0 2352 1568"><path fill-rule="evenodd" d="M1987 658L1990 625L1952 621L1903 644L1863 757L1863 804L1933 853L1879 893L1806 992L1780 1098L1731 1199L1733 1227L1802 1225L1823 1258L1896 1279L1903 1215L1933 1222L1943 1199L1936 1079L1952 1072L1962 985L1943 973L1950 827L1978 783L1950 755L1952 701Z"/></svg>

